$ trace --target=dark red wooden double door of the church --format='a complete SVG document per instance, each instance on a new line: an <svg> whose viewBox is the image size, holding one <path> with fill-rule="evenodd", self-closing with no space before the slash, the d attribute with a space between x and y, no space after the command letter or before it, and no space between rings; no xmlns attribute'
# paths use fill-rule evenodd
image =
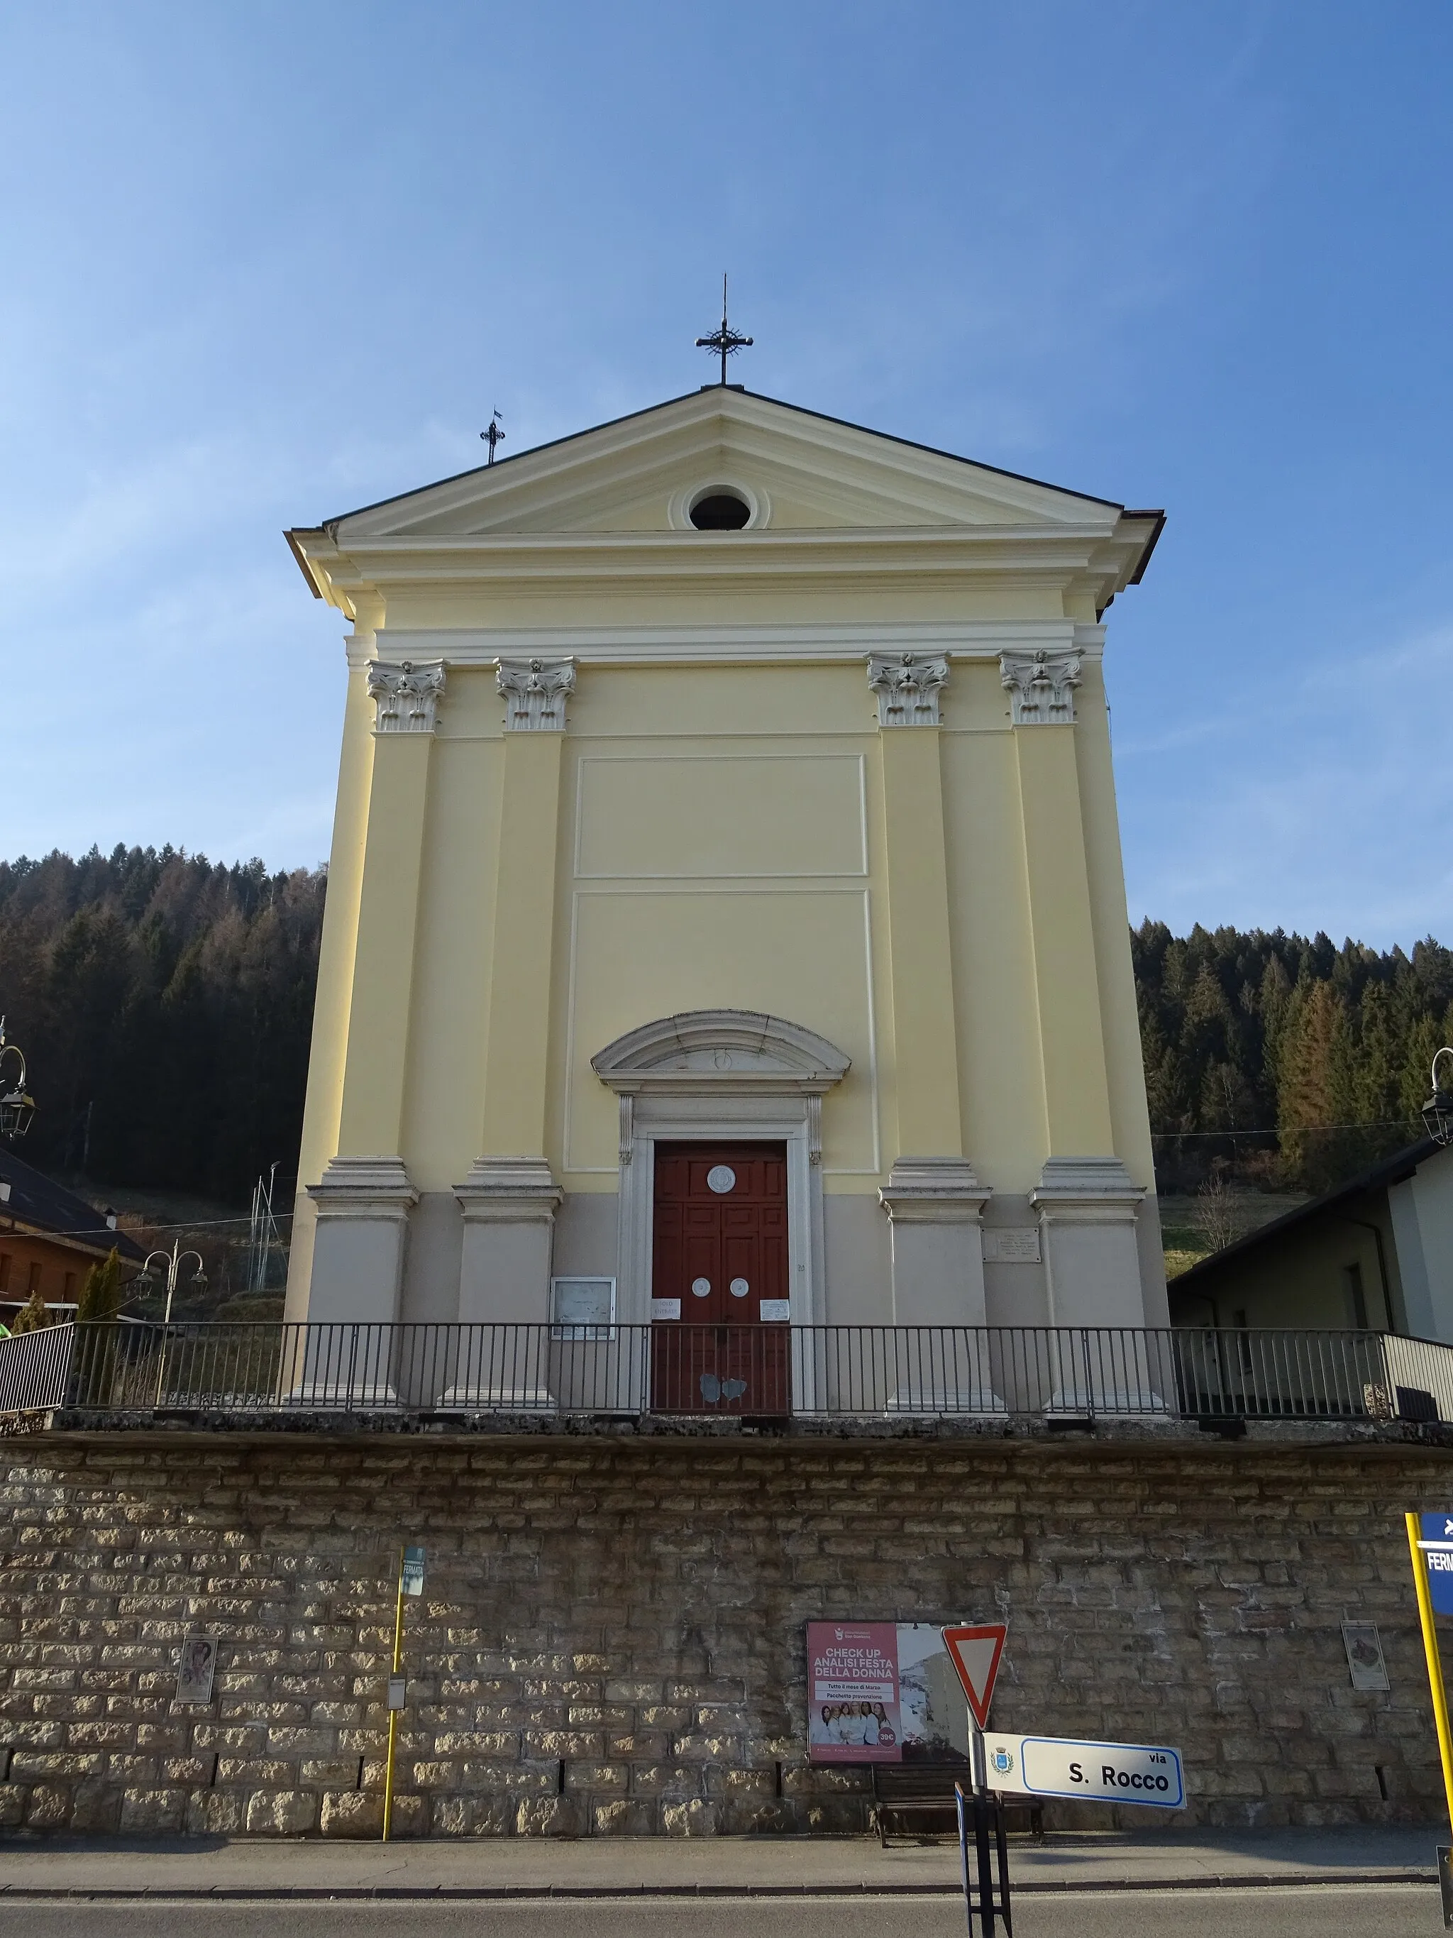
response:
<svg viewBox="0 0 1453 1938"><path fill-rule="evenodd" d="M790 1413L787 1145L659 1143L657 1413Z"/></svg>

